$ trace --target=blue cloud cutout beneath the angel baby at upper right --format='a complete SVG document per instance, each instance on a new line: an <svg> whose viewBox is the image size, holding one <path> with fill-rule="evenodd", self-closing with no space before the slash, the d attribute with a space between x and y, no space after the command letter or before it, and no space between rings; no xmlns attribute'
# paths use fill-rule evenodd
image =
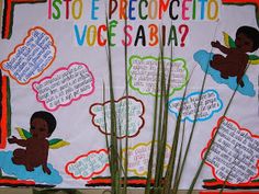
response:
<svg viewBox="0 0 259 194"><path fill-rule="evenodd" d="M221 77L221 72L216 69L213 69L210 66L210 60L212 59L213 55L214 55L213 53L207 53L206 50L199 50L193 55L193 58L201 66L204 72L206 71L206 67L209 65L207 73L212 76L214 81L216 81L219 84L224 83L234 91L237 87L236 77L229 77L228 79L223 79ZM249 78L247 75L243 77L243 81L245 85L243 88L239 85L237 88L237 91L244 95L255 96L256 91L254 89L254 84L252 82L249 81Z"/></svg>

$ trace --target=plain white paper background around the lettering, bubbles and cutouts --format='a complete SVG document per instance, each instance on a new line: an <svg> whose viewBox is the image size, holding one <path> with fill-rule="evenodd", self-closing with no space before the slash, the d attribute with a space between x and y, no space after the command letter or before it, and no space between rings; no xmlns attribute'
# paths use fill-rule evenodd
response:
<svg viewBox="0 0 259 194"><path fill-rule="evenodd" d="M89 3L89 2L88 2ZM86 3L86 4L88 4ZM90 3L89 3L90 4ZM103 8L100 8L103 10ZM100 11L101 11L100 10ZM90 11L89 11L90 12ZM205 49L210 52L211 41L218 39L223 43L222 32L227 32L232 37L235 37L236 30L241 25L257 26L255 18L255 7L236 7L236 5L222 5L221 7L221 19L218 22L210 21L177 21L177 23L185 23L189 25L190 32L187 38L187 46L176 47L173 55L181 57L187 60L189 71L196 65L193 60L193 54L199 49ZM88 13L90 14L90 13ZM104 18L104 14L98 14ZM89 114L89 107L93 103L102 102L102 82L109 83L108 66L106 66L106 54L104 47L89 47L87 45L77 46L74 35L74 24L89 25L105 24L104 19L98 21L80 20L75 22L72 20L66 21L60 19L57 21L47 19L47 3L38 4L19 4L15 5L15 13L13 20L13 32L11 39L0 39L0 60L3 60L13 50L13 48L22 43L22 39L26 36L27 31L34 26L42 26L49 32L55 41L57 47L56 59L53 65L44 71L44 73L37 78L38 81L42 78L50 76L56 69L60 67L67 67L74 61L86 64L95 78L95 91L93 94L81 98L79 101L72 102L69 106L59 107L53 112L57 119L57 128L52 137L63 138L70 142L70 146L60 148L57 150L49 150L48 162L57 169L63 176L63 183L58 187L83 187L86 181L75 181L71 176L65 173L65 166L68 161L74 160L80 155L87 153L91 150L99 150L105 148L104 135L101 134L97 127L91 123L91 115ZM119 21L123 25L123 21ZM139 24L156 23L158 21L130 21L133 26ZM160 23L160 22L158 22ZM170 20L164 21L169 23ZM176 23L176 25L178 25ZM173 23L174 24L174 23ZM215 30L215 27L217 27ZM215 37L214 37L215 33ZM117 36L123 37L117 34ZM180 41L180 38L179 38ZM218 50L215 50L218 52ZM259 53L255 53L259 55ZM158 47L134 47L128 48L128 56L158 56ZM165 54L170 57L170 49L166 50ZM112 48L113 69L114 69L114 84L115 84L115 98L120 99L124 92L124 57L123 47L116 46ZM250 81L255 85L256 92L258 92L258 72L257 66L250 67L247 75ZM5 73L5 72L3 72ZM7 75L7 73L5 73ZM200 66L194 70L193 78L190 84L190 93L200 90L202 78L204 72ZM198 168L201 157L200 153L205 147L207 140L211 137L211 132L216 125L217 119L222 116L225 105L227 104L233 91L225 84L218 84L207 76L206 89L214 89L218 92L224 107L219 113L215 113L213 117L205 122L196 124L190 156L187 161L183 182L181 183L182 189L187 189L190 184L193 173ZM108 96L109 90L106 90ZM138 142L148 142L151 139L153 128L153 102L154 98L150 95L142 95L134 90L130 89L130 94L142 100L145 104L145 126L142 128L139 135L135 138L131 138L130 146L134 146ZM176 92L170 99L181 96L181 92ZM35 93L32 90L31 83L27 85L19 85L14 80L11 79L11 105L12 105L12 135L18 137L18 133L14 127L20 126L29 129L31 115L40 110L44 110L43 104L38 103L35 99ZM236 93L233 105L227 114L228 117L238 122L238 124L245 128L248 128L254 134L259 134L259 119L258 119L258 99L257 94L254 98L241 95ZM169 115L170 125L173 126L176 116ZM187 135L191 129L191 123L187 122ZM169 138L172 138L172 132L169 133ZM170 140L169 140L170 142ZM14 150L16 145L8 145L5 150ZM106 170L103 174L108 174ZM211 168L204 167L202 174L196 184L196 189L201 189L203 179L211 179Z"/></svg>

